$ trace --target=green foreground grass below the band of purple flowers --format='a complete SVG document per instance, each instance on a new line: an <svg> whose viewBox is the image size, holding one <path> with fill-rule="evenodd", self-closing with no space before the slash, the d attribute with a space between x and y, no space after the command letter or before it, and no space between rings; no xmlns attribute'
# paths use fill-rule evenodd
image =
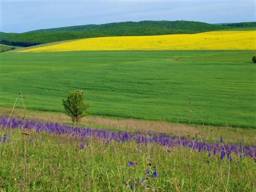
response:
<svg viewBox="0 0 256 192"><path fill-rule="evenodd" d="M37 132L30 128L24 131L30 134L25 138L25 181L22 132L18 128L0 129L0 135L8 135L4 142L0 142L2 191L130 191L133 184L132 191L255 190L256 166L254 158L248 156L240 158L239 154L231 154L232 161L220 160L219 152L210 157L208 152L190 152L184 147L171 147L168 152L168 147L157 143L107 143L88 136L77 157L73 136ZM129 161L137 164L128 166ZM158 177L154 178L155 170Z"/></svg>

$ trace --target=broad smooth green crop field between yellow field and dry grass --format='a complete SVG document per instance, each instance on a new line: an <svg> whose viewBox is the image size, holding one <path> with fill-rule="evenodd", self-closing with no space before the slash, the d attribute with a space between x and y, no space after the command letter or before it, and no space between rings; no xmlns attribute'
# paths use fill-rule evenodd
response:
<svg viewBox="0 0 256 192"><path fill-rule="evenodd" d="M64 111L84 90L92 115L256 128L255 51L3 53L0 106ZM184 61L183 61L184 60Z"/></svg>

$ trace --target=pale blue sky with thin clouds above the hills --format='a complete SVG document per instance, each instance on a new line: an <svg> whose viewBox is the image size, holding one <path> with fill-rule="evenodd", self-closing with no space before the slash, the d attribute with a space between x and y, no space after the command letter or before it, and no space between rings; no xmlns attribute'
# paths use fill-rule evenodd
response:
<svg viewBox="0 0 256 192"><path fill-rule="evenodd" d="M256 21L255 0L0 0L0 32L143 20Z"/></svg>

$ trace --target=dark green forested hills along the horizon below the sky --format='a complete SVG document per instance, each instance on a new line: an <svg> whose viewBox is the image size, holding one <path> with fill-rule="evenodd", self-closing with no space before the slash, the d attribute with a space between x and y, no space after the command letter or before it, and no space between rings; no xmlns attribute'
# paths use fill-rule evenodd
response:
<svg viewBox="0 0 256 192"><path fill-rule="evenodd" d="M194 21L140 21L41 29L25 33L0 32L0 44L34 46L63 40L108 37L193 34L238 27L256 27L256 22L214 25Z"/></svg>

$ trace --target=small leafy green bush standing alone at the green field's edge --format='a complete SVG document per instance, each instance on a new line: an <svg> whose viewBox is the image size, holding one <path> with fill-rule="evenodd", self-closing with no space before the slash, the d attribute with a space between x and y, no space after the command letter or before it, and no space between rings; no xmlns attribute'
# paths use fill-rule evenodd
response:
<svg viewBox="0 0 256 192"><path fill-rule="evenodd" d="M85 110L90 106L89 103L84 102L84 92L79 90L69 91L67 99L62 99L62 105L73 123L78 123L82 117L85 117L87 115Z"/></svg>

